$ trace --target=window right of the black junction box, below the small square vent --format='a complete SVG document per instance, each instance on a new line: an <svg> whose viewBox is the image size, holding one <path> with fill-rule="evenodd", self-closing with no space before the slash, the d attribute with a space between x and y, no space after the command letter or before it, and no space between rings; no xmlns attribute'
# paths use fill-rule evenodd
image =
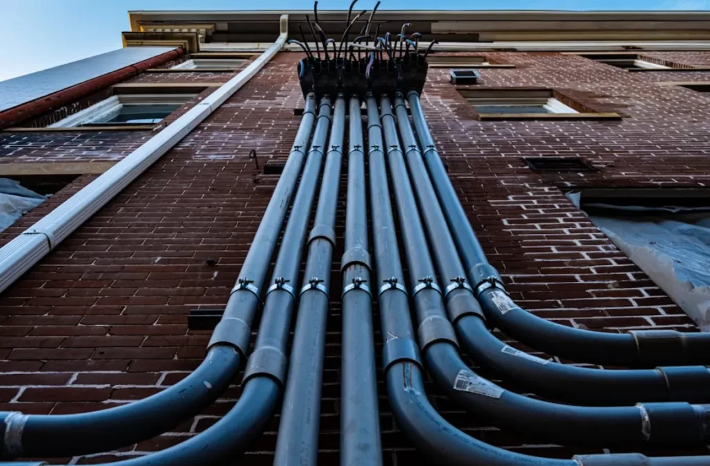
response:
<svg viewBox="0 0 710 466"><path fill-rule="evenodd" d="M570 102L563 103L552 89L458 89L479 113L481 120L618 119L617 113L598 113ZM576 109L574 107L578 107Z"/></svg>

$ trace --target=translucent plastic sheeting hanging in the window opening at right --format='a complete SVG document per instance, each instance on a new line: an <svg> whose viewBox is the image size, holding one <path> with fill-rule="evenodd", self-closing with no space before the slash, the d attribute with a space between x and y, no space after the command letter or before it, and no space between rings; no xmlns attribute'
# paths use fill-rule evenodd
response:
<svg viewBox="0 0 710 466"><path fill-rule="evenodd" d="M570 196L573 201L574 194ZM587 204L592 222L710 331L710 209Z"/></svg>

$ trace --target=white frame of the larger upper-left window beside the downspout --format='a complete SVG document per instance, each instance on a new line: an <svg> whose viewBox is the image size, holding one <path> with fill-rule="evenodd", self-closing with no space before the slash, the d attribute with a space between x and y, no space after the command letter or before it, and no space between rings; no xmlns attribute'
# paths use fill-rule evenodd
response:
<svg viewBox="0 0 710 466"><path fill-rule="evenodd" d="M101 120L108 120L116 116L124 104L131 105L159 105L174 104L182 105L192 99L197 94L120 94L104 99L97 104L90 106L73 115L62 118L57 123L53 123L47 128L75 128L87 123L94 123ZM151 123L147 123L151 124ZM123 126L117 123L116 126Z"/></svg>

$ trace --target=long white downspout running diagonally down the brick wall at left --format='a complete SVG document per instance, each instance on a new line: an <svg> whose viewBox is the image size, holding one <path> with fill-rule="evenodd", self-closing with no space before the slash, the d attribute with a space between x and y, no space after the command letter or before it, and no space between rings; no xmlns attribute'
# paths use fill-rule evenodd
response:
<svg viewBox="0 0 710 466"><path fill-rule="evenodd" d="M4 292L16 279L39 262L156 160L165 155L165 152L178 144L202 123L204 118L224 104L226 99L229 99L261 70L283 48L288 39L288 15L281 16L279 26L280 34L275 43L251 65L131 152L124 160L0 248L0 292Z"/></svg>

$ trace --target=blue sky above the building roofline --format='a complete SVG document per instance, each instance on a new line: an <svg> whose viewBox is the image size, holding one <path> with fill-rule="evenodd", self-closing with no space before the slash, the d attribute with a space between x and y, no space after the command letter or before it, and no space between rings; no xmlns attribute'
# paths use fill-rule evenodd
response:
<svg viewBox="0 0 710 466"><path fill-rule="evenodd" d="M369 8L375 0L361 0ZM348 0L321 0L344 9ZM708 10L710 0L383 0L381 9ZM486 8L487 7L487 8ZM0 0L0 81L121 48L129 10L311 9L312 0Z"/></svg>

